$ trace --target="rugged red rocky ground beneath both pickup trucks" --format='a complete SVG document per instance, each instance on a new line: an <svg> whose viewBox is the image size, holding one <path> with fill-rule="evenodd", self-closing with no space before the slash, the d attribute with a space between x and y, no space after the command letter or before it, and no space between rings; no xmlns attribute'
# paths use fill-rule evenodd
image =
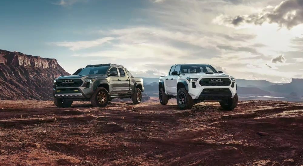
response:
<svg viewBox="0 0 303 166"><path fill-rule="evenodd" d="M0 165L303 165L303 103L0 101Z"/></svg>

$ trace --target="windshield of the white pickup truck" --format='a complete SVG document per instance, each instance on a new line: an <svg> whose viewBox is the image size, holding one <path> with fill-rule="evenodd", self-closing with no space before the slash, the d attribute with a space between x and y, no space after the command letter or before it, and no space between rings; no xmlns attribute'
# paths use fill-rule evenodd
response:
<svg viewBox="0 0 303 166"><path fill-rule="evenodd" d="M217 73L211 65L181 65L181 73Z"/></svg>

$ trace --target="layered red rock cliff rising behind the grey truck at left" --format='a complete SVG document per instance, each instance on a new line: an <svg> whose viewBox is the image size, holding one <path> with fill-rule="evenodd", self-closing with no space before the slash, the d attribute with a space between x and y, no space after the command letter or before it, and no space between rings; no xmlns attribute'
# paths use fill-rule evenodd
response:
<svg viewBox="0 0 303 166"><path fill-rule="evenodd" d="M56 59L0 49L0 100L52 99L53 80L70 75Z"/></svg>

